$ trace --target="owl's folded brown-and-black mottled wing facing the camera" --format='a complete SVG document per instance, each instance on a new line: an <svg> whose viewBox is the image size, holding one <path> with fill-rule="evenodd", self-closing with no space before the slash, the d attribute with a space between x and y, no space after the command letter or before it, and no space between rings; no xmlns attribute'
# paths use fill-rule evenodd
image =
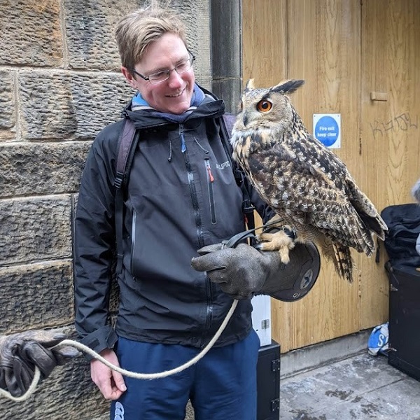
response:
<svg viewBox="0 0 420 420"><path fill-rule="evenodd" d="M356 209L369 200L357 195L359 190L345 165L316 139L310 135L290 137L251 154L247 166L262 200L298 231L312 227L359 252L368 248L370 255L372 235L358 214L366 211Z"/></svg>

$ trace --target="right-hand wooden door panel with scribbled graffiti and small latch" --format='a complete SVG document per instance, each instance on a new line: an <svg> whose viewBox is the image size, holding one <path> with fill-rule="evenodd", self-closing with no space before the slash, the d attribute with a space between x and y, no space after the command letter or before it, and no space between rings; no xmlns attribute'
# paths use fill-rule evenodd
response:
<svg viewBox="0 0 420 420"><path fill-rule="evenodd" d="M359 181L383 209L413 202L420 177L420 1L363 1L361 11ZM362 265L360 329L387 319L385 260Z"/></svg>

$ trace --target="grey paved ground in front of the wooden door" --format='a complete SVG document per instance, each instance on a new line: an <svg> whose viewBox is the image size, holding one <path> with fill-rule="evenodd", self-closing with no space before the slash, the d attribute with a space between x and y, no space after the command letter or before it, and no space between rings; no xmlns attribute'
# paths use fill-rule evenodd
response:
<svg viewBox="0 0 420 420"><path fill-rule="evenodd" d="M367 336L357 338L362 348ZM290 364L297 360L286 353L280 420L420 420L420 381L388 365L386 356L370 356L365 349L343 356L347 344L333 345L315 347L315 356L302 351L303 372L293 372ZM328 354L339 360L328 361ZM310 358L318 365L311 367Z"/></svg>

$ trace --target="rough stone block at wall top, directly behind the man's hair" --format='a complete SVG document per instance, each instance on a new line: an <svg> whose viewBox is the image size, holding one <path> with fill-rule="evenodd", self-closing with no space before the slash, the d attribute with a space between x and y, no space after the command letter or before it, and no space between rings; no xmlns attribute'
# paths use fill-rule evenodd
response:
<svg viewBox="0 0 420 420"><path fill-rule="evenodd" d="M73 69L117 70L120 56L113 36L120 18L141 8L144 1L66 0L66 38L69 65ZM209 76L210 11L208 1L174 0L171 8L183 15L191 50L197 55L195 68L200 76Z"/></svg>

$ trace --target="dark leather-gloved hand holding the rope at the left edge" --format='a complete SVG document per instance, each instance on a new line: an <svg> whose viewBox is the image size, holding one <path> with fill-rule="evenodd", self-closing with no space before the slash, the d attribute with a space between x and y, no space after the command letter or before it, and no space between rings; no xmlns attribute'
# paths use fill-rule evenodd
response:
<svg viewBox="0 0 420 420"><path fill-rule="evenodd" d="M64 365L78 356L79 352L71 346L54 347L63 339L66 335L57 330L0 335L0 388L20 397L31 385L35 367L40 370L41 379L45 379L56 365Z"/></svg>

